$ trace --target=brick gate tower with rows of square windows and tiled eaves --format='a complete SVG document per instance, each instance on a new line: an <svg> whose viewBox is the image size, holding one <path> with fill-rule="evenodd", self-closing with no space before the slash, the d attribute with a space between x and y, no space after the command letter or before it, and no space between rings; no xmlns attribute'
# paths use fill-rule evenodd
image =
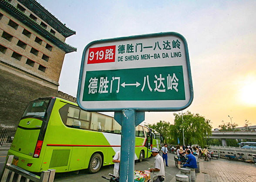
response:
<svg viewBox="0 0 256 182"><path fill-rule="evenodd" d="M75 33L36 0L0 0L0 128L17 127L30 100L61 97L64 56L77 51L65 39Z"/></svg>

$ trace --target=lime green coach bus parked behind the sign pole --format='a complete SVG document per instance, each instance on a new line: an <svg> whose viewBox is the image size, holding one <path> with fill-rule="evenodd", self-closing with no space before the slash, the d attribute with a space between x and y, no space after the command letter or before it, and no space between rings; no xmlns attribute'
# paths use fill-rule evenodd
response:
<svg viewBox="0 0 256 182"><path fill-rule="evenodd" d="M150 157L152 143L159 143L159 149L160 142L153 139L148 127L138 125L138 161ZM81 110L77 104L58 97L42 97L27 105L8 155L30 172L88 169L95 173L101 166L113 164L120 148L121 126L113 117Z"/></svg>

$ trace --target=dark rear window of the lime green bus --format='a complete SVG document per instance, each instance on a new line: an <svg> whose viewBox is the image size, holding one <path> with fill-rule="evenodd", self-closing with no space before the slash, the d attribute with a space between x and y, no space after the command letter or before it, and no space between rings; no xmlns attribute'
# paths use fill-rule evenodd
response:
<svg viewBox="0 0 256 182"><path fill-rule="evenodd" d="M41 117L44 118L46 110L48 108L50 99L41 99L36 101L31 101L23 114L22 117Z"/></svg>

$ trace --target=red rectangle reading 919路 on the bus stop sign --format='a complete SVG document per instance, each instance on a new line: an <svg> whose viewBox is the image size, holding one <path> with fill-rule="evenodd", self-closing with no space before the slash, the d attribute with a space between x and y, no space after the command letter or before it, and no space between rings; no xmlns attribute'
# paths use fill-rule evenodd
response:
<svg viewBox="0 0 256 182"><path fill-rule="evenodd" d="M115 62L115 46L95 47L89 49L87 64Z"/></svg>

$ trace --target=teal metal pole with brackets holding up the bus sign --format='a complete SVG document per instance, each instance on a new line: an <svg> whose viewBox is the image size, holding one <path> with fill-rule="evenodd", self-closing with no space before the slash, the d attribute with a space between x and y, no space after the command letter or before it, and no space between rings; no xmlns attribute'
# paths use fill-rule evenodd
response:
<svg viewBox="0 0 256 182"><path fill-rule="evenodd" d="M115 120L122 126L120 182L134 182L135 127L145 118L145 112L124 109L115 112Z"/></svg>

